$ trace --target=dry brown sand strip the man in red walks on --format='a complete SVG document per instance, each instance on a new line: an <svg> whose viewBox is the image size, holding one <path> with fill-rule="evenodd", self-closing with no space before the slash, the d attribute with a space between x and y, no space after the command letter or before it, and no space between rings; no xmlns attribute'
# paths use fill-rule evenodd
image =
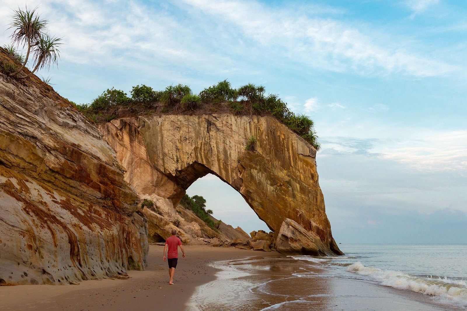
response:
<svg viewBox="0 0 467 311"><path fill-rule="evenodd" d="M278 256L233 247L184 246L186 258L178 260L175 285L169 285L163 246L150 245L145 271L128 271L129 279L84 281L78 285L16 285L0 287L0 310L134 310L136 308L185 310L196 288L216 280L222 260ZM175 298L175 299L174 299Z"/></svg>

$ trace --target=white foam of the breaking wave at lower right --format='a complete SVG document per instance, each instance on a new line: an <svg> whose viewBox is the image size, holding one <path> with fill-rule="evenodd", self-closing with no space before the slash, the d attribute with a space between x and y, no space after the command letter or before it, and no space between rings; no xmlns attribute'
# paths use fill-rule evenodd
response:
<svg viewBox="0 0 467 311"><path fill-rule="evenodd" d="M346 270L368 276L385 286L430 295L443 303L467 306L467 287L463 280L450 280L446 277L420 278L400 271L365 267L360 261L348 266Z"/></svg>

